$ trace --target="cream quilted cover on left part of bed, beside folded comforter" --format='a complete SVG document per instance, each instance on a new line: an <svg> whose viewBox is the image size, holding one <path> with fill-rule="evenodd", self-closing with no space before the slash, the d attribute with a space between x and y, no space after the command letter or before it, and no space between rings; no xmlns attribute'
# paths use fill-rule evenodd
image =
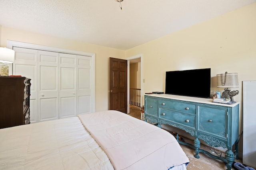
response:
<svg viewBox="0 0 256 170"><path fill-rule="evenodd" d="M0 129L0 170L114 170L78 117Z"/></svg>

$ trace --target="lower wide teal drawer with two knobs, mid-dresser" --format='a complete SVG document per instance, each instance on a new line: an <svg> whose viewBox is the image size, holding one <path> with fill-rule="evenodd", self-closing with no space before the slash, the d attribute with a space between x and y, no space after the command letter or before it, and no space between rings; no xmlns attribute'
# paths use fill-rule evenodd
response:
<svg viewBox="0 0 256 170"><path fill-rule="evenodd" d="M160 108L160 118L172 121L173 123L179 123L185 126L189 126L195 129L196 115L180 113Z"/></svg>

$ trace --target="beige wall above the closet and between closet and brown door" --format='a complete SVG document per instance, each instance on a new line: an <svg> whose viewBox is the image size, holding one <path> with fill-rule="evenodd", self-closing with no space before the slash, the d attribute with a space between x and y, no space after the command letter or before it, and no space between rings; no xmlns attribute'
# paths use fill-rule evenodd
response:
<svg viewBox="0 0 256 170"><path fill-rule="evenodd" d="M108 109L109 57L125 59L125 51L3 26L0 29L0 38L1 47L6 47L7 40L12 40L95 53L95 110L103 111Z"/></svg>

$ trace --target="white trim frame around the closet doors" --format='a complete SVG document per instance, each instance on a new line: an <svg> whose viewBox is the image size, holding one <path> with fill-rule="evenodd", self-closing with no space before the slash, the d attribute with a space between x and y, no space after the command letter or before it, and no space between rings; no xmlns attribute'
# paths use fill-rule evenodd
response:
<svg viewBox="0 0 256 170"><path fill-rule="evenodd" d="M52 51L52 52L58 52L58 53L68 53L68 54L84 55L84 56L92 57L92 84L91 84L92 85L92 113L95 112L95 53L87 53L84 51L74 51L74 50L61 49L61 48L50 47L45 45L37 45L37 44L7 40L7 48L13 49L13 47L45 50L45 51ZM9 75L12 75L12 64L10 64Z"/></svg>

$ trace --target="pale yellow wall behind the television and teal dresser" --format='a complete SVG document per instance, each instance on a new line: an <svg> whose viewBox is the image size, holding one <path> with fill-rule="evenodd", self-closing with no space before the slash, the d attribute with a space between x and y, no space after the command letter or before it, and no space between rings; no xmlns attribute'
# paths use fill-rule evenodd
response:
<svg viewBox="0 0 256 170"><path fill-rule="evenodd" d="M242 130L242 81L256 80L256 3L212 20L177 31L126 51L126 57L143 54L144 92L165 90L165 72L211 68L211 92L216 74L237 72ZM194 82L190 82L194 83ZM240 154L242 151L240 143Z"/></svg>

